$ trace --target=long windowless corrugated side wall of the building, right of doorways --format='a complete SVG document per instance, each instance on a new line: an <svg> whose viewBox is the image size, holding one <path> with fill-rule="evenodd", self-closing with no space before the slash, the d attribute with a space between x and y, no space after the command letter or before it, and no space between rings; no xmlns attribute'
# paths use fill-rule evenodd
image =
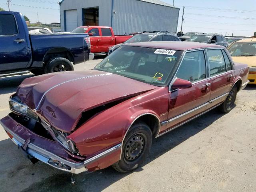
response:
<svg viewBox="0 0 256 192"><path fill-rule="evenodd" d="M177 31L179 9L138 0L114 0L116 34L145 30Z"/></svg>

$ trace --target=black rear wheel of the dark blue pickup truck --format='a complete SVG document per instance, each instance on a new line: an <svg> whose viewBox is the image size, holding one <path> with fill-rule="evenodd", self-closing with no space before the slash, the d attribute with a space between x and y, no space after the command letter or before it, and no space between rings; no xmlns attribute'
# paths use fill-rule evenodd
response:
<svg viewBox="0 0 256 192"><path fill-rule="evenodd" d="M56 57L51 59L45 67L45 73L62 71L74 71L72 63L63 57Z"/></svg>

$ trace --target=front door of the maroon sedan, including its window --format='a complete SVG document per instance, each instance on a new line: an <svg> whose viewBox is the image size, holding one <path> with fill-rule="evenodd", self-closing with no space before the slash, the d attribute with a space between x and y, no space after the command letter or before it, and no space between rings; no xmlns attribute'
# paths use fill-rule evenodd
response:
<svg viewBox="0 0 256 192"><path fill-rule="evenodd" d="M211 92L206 63L203 49L185 53L175 78L192 82L192 87L170 90L168 129L206 110Z"/></svg>

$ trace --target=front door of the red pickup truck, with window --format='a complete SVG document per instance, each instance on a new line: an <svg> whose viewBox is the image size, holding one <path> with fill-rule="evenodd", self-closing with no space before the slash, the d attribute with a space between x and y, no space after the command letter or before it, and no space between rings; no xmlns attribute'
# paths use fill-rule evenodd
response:
<svg viewBox="0 0 256 192"><path fill-rule="evenodd" d="M100 36L100 30L99 28L91 28L88 30L88 34L91 33L92 36L90 36L90 42L91 42L91 52L97 53L101 52L101 36Z"/></svg>

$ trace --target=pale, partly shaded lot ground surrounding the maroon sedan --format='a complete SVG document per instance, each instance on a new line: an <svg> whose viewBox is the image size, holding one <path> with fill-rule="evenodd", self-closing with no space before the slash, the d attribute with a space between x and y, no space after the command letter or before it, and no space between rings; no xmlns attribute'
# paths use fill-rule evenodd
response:
<svg viewBox="0 0 256 192"><path fill-rule="evenodd" d="M86 62L93 68L102 58ZM84 64L75 66L84 70ZM0 78L0 118L9 112L8 98L26 74ZM30 163L0 127L1 192L84 191L256 191L256 86L238 92L228 114L212 110L153 141L144 166L120 174L111 167L75 175L42 162Z"/></svg>

